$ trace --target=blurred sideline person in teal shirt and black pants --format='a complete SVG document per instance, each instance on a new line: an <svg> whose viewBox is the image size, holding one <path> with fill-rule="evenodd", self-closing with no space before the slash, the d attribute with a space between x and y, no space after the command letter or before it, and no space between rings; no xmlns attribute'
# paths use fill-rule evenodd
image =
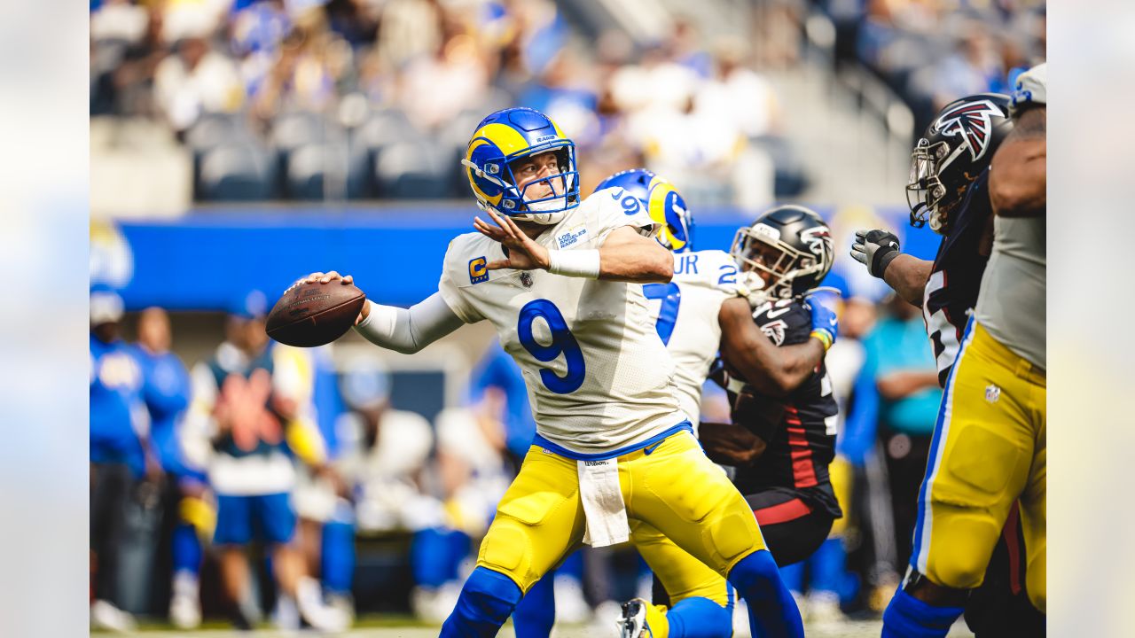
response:
<svg viewBox="0 0 1135 638"><path fill-rule="evenodd" d="M892 295L886 310L889 314L864 341L864 373L874 379L881 400L878 436L891 487L898 569L910 556L918 487L942 389L918 309Z"/></svg>

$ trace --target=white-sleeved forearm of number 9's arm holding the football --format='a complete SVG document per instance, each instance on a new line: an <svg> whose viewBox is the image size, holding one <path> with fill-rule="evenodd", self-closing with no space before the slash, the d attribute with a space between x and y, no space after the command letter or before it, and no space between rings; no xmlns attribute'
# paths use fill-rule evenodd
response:
<svg viewBox="0 0 1135 638"><path fill-rule="evenodd" d="M355 326L355 330L370 343L403 354L422 350L463 324L440 293L434 293L409 309L372 301L367 303L370 304L370 312Z"/></svg>

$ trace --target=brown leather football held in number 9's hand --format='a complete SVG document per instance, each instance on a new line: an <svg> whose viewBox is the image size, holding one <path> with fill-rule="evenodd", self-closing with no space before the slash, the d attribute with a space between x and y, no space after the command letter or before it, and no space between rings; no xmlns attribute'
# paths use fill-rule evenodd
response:
<svg viewBox="0 0 1135 638"><path fill-rule="evenodd" d="M287 345L314 347L342 337L354 325L367 295L353 285L296 283L268 313L268 336Z"/></svg>

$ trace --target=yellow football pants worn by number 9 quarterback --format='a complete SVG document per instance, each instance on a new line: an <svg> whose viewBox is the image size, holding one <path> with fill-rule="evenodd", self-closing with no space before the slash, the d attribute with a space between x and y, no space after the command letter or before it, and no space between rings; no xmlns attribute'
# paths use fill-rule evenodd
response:
<svg viewBox="0 0 1135 638"><path fill-rule="evenodd" d="M693 435L682 430L649 454L620 456L619 484L634 540L644 556L654 555L647 560L675 601L679 593L697 591L688 595L724 605L722 587L721 595L701 593L708 576L726 577L765 543L745 498ZM527 593L582 544L583 520L577 462L533 445L497 506L477 565L508 576ZM692 577L671 573L670 549L657 543L659 536L708 566Z"/></svg>

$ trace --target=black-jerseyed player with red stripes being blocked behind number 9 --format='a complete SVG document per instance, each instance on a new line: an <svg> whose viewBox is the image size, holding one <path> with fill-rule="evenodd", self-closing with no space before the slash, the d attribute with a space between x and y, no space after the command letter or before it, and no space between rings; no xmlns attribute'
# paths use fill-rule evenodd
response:
<svg viewBox="0 0 1135 638"><path fill-rule="evenodd" d="M731 253L739 280L762 288L753 318L777 346L812 335L807 294L831 269L831 232L815 212L773 209L738 230ZM822 268L810 266L819 262ZM802 561L827 538L842 515L829 481L835 455L838 408L823 362L779 396L757 391L723 366L715 379L729 393L732 423L703 423L711 459L737 468L746 496L780 565Z"/></svg>

